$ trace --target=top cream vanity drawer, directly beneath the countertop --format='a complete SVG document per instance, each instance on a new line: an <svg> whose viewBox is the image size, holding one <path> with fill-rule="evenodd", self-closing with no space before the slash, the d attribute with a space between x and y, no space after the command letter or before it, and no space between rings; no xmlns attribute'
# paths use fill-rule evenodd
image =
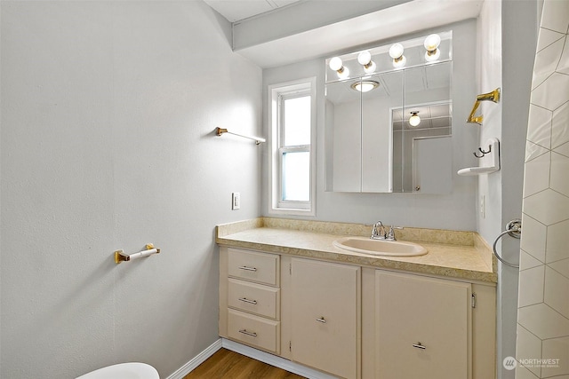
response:
<svg viewBox="0 0 569 379"><path fill-rule="evenodd" d="M279 256L241 249L228 249L228 275L238 279L278 286Z"/></svg>

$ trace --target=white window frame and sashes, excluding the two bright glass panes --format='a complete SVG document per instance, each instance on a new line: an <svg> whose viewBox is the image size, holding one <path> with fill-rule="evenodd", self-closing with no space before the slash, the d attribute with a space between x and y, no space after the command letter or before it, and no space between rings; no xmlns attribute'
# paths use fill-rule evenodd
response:
<svg viewBox="0 0 569 379"><path fill-rule="evenodd" d="M284 100L310 96L310 145L283 146ZM316 77L268 86L268 213L316 216ZM309 153L309 201L283 200L283 156Z"/></svg>

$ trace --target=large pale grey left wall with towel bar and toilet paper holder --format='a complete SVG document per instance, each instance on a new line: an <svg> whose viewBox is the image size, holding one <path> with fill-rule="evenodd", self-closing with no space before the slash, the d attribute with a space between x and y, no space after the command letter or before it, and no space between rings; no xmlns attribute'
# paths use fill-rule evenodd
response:
<svg viewBox="0 0 569 379"><path fill-rule="evenodd" d="M259 146L212 133L260 134L260 69L203 2L1 7L0 376L166 377L218 338L214 225L260 214Z"/></svg>

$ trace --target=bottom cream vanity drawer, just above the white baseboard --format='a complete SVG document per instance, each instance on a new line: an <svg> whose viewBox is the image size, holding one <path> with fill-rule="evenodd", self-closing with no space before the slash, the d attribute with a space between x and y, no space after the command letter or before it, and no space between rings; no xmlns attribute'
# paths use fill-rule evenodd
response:
<svg viewBox="0 0 569 379"><path fill-rule="evenodd" d="M228 336L260 349L280 352L280 322L228 310Z"/></svg>

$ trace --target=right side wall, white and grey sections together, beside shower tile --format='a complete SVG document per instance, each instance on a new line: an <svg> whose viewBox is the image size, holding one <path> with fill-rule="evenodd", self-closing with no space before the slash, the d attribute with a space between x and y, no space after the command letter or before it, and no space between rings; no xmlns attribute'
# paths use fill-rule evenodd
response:
<svg viewBox="0 0 569 379"><path fill-rule="evenodd" d="M537 36L536 1L484 3L478 20L480 93L501 87L499 104L485 102L481 113L480 144L501 139L501 170L478 178L477 204L485 197L485 217L477 213L478 232L491 245L509 220L521 217L525 131ZM504 237L498 244L502 257L517 263L519 240ZM498 378L513 378L502 366L516 355L518 270L499 265L498 271Z"/></svg>

